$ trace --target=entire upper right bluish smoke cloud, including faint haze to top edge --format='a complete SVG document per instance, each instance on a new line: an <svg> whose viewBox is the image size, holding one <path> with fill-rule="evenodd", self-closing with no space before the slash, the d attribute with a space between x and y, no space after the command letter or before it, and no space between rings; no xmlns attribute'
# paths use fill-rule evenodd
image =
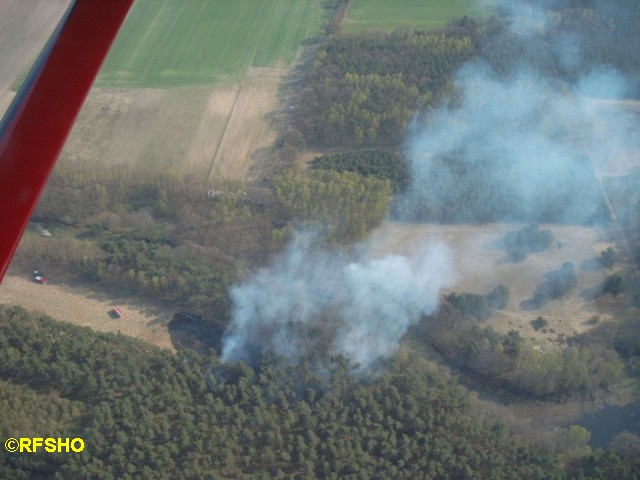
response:
<svg viewBox="0 0 640 480"><path fill-rule="evenodd" d="M453 106L412 126L413 187L398 216L608 221L597 175L638 148L637 118L612 102L633 96L638 83L608 61L638 71L624 55L639 43L637 3L592 2L595 9L563 13L548 10L559 0L496 3L510 21L460 69Z"/></svg>

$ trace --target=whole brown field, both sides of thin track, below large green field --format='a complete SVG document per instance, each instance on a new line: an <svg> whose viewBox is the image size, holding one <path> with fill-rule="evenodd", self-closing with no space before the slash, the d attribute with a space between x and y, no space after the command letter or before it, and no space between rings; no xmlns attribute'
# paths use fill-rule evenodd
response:
<svg viewBox="0 0 640 480"><path fill-rule="evenodd" d="M149 165L212 184L251 180L276 137L267 114L284 72L262 70L241 86L94 88L59 162Z"/></svg>

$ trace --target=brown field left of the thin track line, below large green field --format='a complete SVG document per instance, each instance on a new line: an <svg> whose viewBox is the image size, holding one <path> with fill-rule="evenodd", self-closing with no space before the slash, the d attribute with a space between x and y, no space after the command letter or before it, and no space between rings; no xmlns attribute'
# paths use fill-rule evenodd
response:
<svg viewBox="0 0 640 480"><path fill-rule="evenodd" d="M59 161L206 174L237 90L94 88Z"/></svg>

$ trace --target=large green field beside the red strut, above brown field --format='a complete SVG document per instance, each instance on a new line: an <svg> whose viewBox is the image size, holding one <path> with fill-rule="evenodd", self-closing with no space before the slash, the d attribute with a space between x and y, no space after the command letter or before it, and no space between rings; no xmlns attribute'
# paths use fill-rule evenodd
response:
<svg viewBox="0 0 640 480"><path fill-rule="evenodd" d="M322 32L326 0L138 0L99 86L237 83L249 67L286 67Z"/></svg>

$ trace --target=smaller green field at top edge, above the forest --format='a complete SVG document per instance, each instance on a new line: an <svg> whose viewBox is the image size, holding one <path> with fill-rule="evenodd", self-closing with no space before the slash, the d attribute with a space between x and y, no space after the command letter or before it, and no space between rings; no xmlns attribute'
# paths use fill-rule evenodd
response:
<svg viewBox="0 0 640 480"><path fill-rule="evenodd" d="M443 27L464 15L485 16L494 13L488 1L478 0L352 0L344 32L363 30L392 31L400 26Z"/></svg>

